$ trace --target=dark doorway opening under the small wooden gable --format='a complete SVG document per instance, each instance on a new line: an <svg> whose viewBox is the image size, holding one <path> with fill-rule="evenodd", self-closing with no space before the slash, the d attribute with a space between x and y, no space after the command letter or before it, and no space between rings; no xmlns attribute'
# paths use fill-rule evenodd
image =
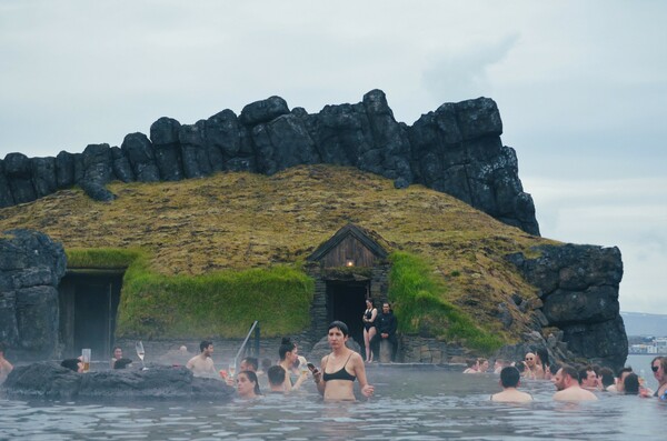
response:
<svg viewBox="0 0 667 441"><path fill-rule="evenodd" d="M329 323L340 320L348 325L350 338L364 348L364 322L370 282L327 281L327 311ZM328 324L328 323L327 323Z"/></svg>

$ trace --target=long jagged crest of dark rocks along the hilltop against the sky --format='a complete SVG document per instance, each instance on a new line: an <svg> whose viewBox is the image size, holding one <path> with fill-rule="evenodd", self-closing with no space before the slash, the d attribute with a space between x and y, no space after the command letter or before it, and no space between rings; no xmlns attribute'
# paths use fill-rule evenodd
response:
<svg viewBox="0 0 667 441"><path fill-rule="evenodd" d="M524 192L515 151L502 146L502 122L488 98L442 104L411 127L397 122L385 93L357 104L326 106L309 114L280 97L223 110L195 124L160 118L120 148L91 144L57 158L9 153L0 161L0 208L30 202L79 184L93 199L123 182L176 181L218 171L273 174L289 167L332 163L452 194L496 219L539 235L535 207Z"/></svg>

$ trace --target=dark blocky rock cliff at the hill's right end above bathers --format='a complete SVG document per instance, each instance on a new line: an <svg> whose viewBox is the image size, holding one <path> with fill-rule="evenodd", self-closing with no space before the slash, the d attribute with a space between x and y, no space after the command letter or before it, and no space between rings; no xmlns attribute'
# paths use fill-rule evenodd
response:
<svg viewBox="0 0 667 441"><path fill-rule="evenodd" d="M618 248L565 244L535 251L538 258L518 253L508 259L538 288L542 325L560 329L575 357L621 368L628 339L618 303L623 278Z"/></svg>

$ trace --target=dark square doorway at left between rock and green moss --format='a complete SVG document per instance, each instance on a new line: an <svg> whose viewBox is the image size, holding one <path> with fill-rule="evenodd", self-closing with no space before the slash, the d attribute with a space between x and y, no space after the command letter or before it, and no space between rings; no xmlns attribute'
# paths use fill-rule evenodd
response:
<svg viewBox="0 0 667 441"><path fill-rule="evenodd" d="M122 272L68 272L59 287L63 357L90 348L92 360L111 357Z"/></svg>

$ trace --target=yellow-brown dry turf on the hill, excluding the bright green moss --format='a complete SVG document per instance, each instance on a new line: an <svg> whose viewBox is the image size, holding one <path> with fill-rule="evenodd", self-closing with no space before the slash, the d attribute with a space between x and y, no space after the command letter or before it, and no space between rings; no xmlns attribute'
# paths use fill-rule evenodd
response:
<svg viewBox="0 0 667 441"><path fill-rule="evenodd" d="M421 186L335 166L301 166L271 177L219 173L179 182L121 183L118 199L96 202L80 189L0 209L0 231L30 228L66 249L140 249L152 271L198 275L299 262L349 222L378 233L389 251L422 257L442 281L441 295L506 339L498 304L534 295L504 255L555 243L508 227Z"/></svg>

